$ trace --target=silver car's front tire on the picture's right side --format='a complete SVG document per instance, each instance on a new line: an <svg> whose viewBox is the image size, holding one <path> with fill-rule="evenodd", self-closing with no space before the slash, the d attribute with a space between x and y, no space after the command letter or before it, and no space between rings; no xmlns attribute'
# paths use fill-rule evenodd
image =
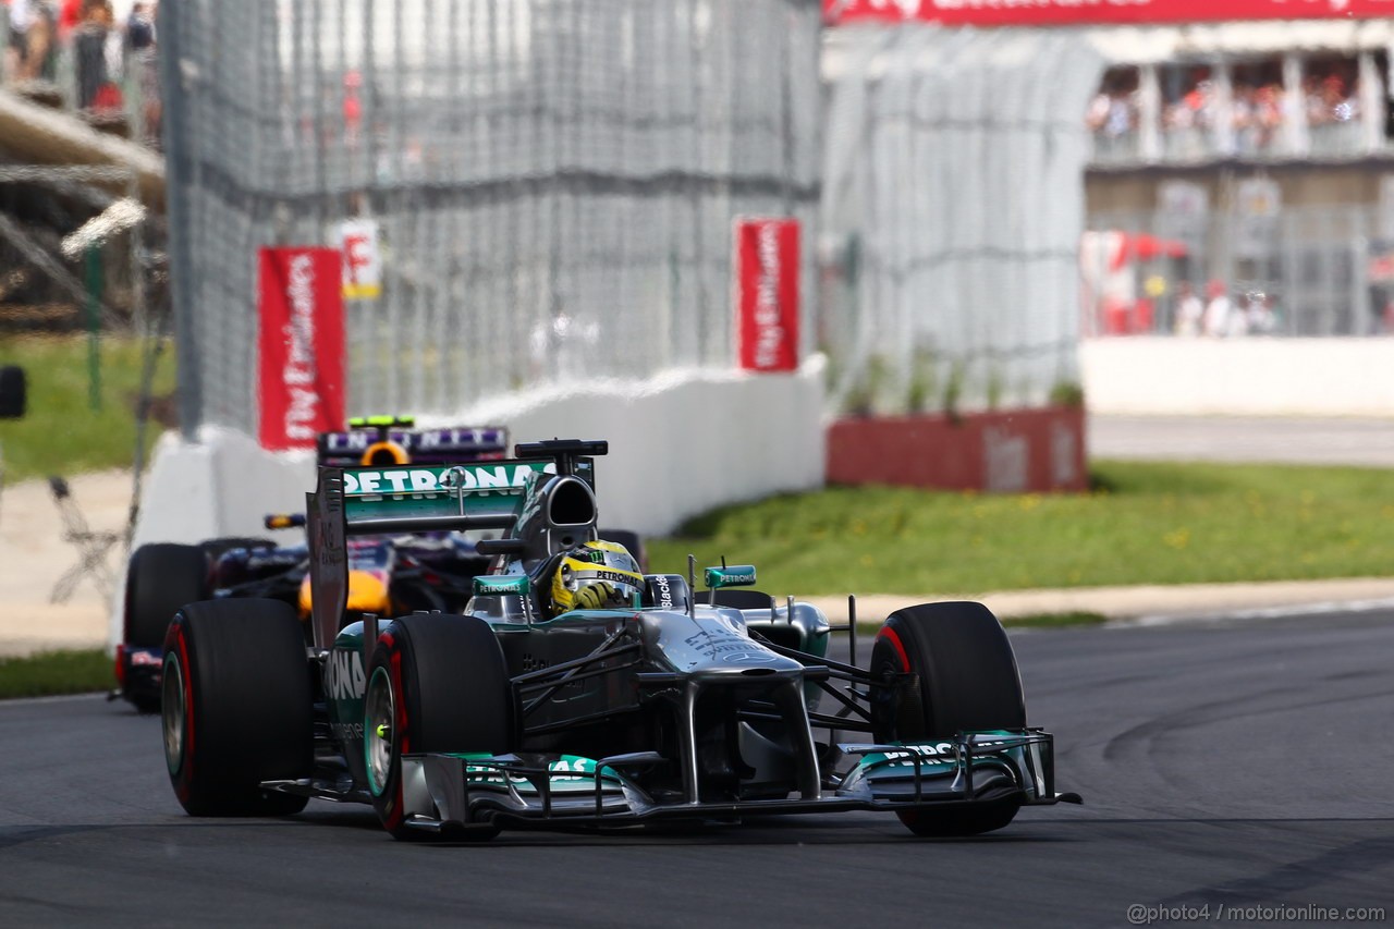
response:
<svg viewBox="0 0 1394 929"><path fill-rule="evenodd" d="M903 672L914 672L919 683L899 696L888 686L873 686L871 725L878 742L1026 728L1012 643L980 603L921 604L891 614L871 649L871 678ZM933 813L902 810L899 817L916 836L977 836L1002 829L1018 809L1020 799L1008 798Z"/></svg>

